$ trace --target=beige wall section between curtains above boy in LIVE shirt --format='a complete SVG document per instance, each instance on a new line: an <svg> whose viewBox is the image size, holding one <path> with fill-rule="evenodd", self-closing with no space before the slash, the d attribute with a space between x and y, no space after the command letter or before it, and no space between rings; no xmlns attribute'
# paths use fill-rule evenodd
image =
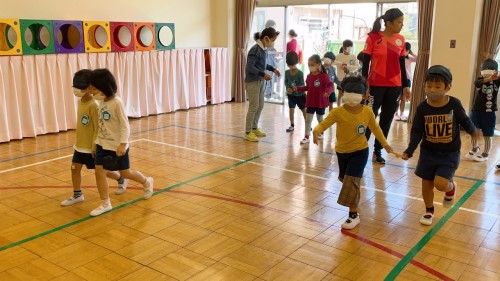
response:
<svg viewBox="0 0 500 281"><path fill-rule="evenodd" d="M453 74L450 94L471 107L478 53L483 0L438 0L434 6L434 25L430 65L442 64ZM453 7L453 9L450 9ZM450 48L450 40L456 48Z"/></svg>

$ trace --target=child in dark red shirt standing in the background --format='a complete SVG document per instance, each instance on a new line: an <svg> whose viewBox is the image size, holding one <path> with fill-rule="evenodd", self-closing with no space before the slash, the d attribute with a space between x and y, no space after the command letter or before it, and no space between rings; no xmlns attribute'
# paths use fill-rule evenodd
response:
<svg viewBox="0 0 500 281"><path fill-rule="evenodd" d="M311 73L307 75L306 86L294 87L295 91L307 91L306 129L304 139L300 141L301 144L309 143L309 134L311 133L311 123L314 113L316 113L318 123L323 121L325 108L328 106L328 97L333 91L333 83L330 81L328 74L326 74L325 67L321 64L321 58L318 55L313 55L307 63ZM323 138L323 135L320 135L319 138Z"/></svg>

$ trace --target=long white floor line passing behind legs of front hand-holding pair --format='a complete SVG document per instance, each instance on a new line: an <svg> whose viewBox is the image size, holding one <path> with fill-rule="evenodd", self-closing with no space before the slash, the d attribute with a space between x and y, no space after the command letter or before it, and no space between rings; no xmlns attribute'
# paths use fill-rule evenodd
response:
<svg viewBox="0 0 500 281"><path fill-rule="evenodd" d="M245 161L245 159L239 159L239 158L235 158L235 157L231 157L231 156L226 156L226 155L222 155L222 154L210 153L210 152L206 152L206 151L202 151L202 150L187 148L187 147L183 147L183 146L179 146L179 145L175 145L175 144L169 144L169 143L160 142L160 141L154 141L154 140L150 140L150 139L138 139L137 141L147 141L147 142L152 142L152 143L156 143L156 144L161 144L161 145L176 147L176 148L180 148L180 149L186 149L186 150L193 151L193 152L196 152L196 153L202 153L202 154L206 154L206 155L212 155L212 156L216 156L216 157L222 157L222 158L226 158L226 159L230 159L230 160ZM281 170L281 171L285 171L285 172L293 173L293 174L297 174L297 175L307 176L307 177L311 177L311 178L316 178L316 179L321 179L321 180L331 180L329 178L325 178L325 177L321 177L321 176L309 175L309 174L305 174L305 173L302 173L302 172L298 172L298 171L294 171L294 170L290 170L290 169L285 169L285 168L278 168L278 167L275 167L275 166L271 166L271 165L267 165L267 164L262 164L262 163L256 163L256 162L253 162L253 161L250 161L250 162L247 162L247 163L248 164L257 165L257 166L261 166L261 167L277 169L277 170ZM387 191L387 190L380 190L380 189L376 189L376 188L372 188L372 187L367 187L367 186L361 186L361 188L364 188L366 190L373 190L373 191L379 192L379 193L385 193L385 194L395 195L395 196L399 196L399 197L404 197L404 198L408 198L408 199L412 199L412 200L424 201L420 197L414 197L414 196L410 196L410 195L395 193L395 192L391 192L391 191ZM443 203L441 203L441 202L434 202L434 204L436 204L436 205L443 205ZM461 207L461 208L459 208L459 210L466 211L466 212L471 212L471 213L476 213L476 214L480 214L480 215L486 215L486 216L490 216L490 217L497 218L497 219L499 218L499 216L496 216L496 215L493 215L493 214L489 214L489 213L486 213L486 212L482 212L482 211L478 211L478 210L474 210L474 209L469 209L469 208Z"/></svg>

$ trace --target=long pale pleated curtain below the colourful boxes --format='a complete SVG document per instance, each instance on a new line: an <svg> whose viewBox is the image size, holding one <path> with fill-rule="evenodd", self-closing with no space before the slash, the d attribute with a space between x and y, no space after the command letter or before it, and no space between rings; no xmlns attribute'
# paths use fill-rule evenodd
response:
<svg viewBox="0 0 500 281"><path fill-rule="evenodd" d="M212 50L212 104L231 100L227 49ZM76 128L73 74L108 68L127 115L204 106L203 49L0 56L0 142Z"/></svg>

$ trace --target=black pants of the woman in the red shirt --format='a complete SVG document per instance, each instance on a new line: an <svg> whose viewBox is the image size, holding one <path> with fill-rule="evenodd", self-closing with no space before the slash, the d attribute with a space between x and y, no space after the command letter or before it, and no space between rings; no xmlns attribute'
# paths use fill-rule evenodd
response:
<svg viewBox="0 0 500 281"><path fill-rule="evenodd" d="M377 117L380 109L379 126L386 138L391 129L394 113L396 113L399 107L399 99L402 92L402 87L370 86L370 95L373 96L372 110L375 117ZM365 136L367 140L370 140L371 133L369 129L366 130ZM382 145L378 140L375 140L375 151L380 150L382 150Z"/></svg>

